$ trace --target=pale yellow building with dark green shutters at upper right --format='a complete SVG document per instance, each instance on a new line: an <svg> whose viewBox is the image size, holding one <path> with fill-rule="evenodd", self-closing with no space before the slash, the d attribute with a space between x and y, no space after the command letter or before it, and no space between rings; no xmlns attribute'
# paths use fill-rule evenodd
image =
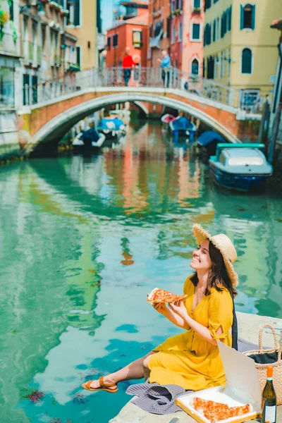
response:
<svg viewBox="0 0 282 423"><path fill-rule="evenodd" d="M282 0L206 0L204 77L240 89L241 104L271 94L277 37L269 22Z"/></svg>

